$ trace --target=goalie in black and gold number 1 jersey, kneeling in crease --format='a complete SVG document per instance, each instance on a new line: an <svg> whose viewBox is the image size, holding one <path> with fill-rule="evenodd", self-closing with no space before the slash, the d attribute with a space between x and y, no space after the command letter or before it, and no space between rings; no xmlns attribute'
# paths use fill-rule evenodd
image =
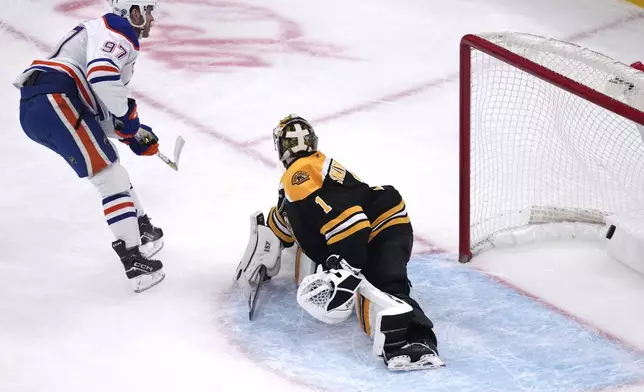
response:
<svg viewBox="0 0 644 392"><path fill-rule="evenodd" d="M257 240L251 238L237 280L243 271L252 282L259 267L274 276L279 242L296 244L303 251L296 274L308 270L298 282L303 309L333 324L347 319L355 302L362 328L374 339L374 354L389 369L442 366L433 324L410 297L413 230L398 191L370 187L318 151L313 127L302 117L284 118L273 139L286 168L278 204L268 215L270 230L251 226ZM305 262L310 268L302 267Z"/></svg>

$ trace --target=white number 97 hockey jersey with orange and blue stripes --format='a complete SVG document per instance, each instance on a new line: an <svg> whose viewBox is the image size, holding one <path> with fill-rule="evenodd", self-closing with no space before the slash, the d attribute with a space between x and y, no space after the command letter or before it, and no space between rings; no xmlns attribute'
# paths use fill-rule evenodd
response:
<svg viewBox="0 0 644 392"><path fill-rule="evenodd" d="M110 113L116 117L127 113L127 85L138 55L138 34L132 25L118 15L105 14L76 26L48 59L31 63L14 86L21 88L36 70L65 73L103 126L111 123Z"/></svg>

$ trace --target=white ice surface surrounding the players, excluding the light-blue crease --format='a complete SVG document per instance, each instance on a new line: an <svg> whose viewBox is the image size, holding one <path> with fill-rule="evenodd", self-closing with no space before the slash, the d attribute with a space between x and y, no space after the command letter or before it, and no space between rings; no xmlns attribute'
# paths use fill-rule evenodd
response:
<svg viewBox="0 0 644 392"><path fill-rule="evenodd" d="M249 214L276 201L270 132L281 117L312 119L325 153L396 185L419 252L455 253L461 36L522 31L644 58L644 12L619 0L160 2L132 88L161 148L177 134L187 144L177 173L120 150L166 233L167 278L138 295L96 191L23 134L11 86L103 4L2 2L1 391L310 390L248 358L217 312ZM489 252L469 266L644 350L644 278L595 245Z"/></svg>

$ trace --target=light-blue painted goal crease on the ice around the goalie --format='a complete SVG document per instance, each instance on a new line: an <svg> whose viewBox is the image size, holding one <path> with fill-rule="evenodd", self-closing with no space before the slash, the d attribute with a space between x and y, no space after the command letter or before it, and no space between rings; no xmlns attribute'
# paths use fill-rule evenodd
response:
<svg viewBox="0 0 644 392"><path fill-rule="evenodd" d="M252 357L325 390L590 391L644 381L641 353L445 255L412 259L409 276L447 367L392 373L355 314L325 325L303 313L288 272L262 287L253 321L237 287L222 316Z"/></svg>

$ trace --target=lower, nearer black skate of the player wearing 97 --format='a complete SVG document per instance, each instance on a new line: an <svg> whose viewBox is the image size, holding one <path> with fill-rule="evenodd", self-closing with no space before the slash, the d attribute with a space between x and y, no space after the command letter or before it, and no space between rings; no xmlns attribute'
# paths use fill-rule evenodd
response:
<svg viewBox="0 0 644 392"><path fill-rule="evenodd" d="M125 241L116 240L112 242L112 248L121 258L125 275L132 282L134 292L145 291L165 278L163 264L159 260L144 257L138 247L126 249Z"/></svg>

